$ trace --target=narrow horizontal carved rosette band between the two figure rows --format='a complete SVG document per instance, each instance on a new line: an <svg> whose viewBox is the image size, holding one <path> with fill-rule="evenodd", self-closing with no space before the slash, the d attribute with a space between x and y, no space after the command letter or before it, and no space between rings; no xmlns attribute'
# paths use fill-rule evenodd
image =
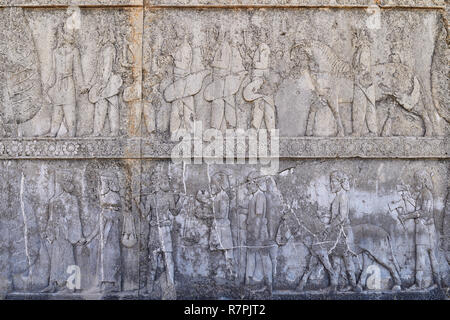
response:
<svg viewBox="0 0 450 320"><path fill-rule="evenodd" d="M175 145L151 138L3 139L0 159L170 159ZM450 154L445 137L280 138L279 145L282 159L448 159Z"/></svg>

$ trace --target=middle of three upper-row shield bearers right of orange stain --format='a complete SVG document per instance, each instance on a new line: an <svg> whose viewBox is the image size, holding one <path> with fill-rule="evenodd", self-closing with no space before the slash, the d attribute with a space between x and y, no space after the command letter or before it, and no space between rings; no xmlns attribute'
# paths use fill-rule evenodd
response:
<svg viewBox="0 0 450 320"><path fill-rule="evenodd" d="M211 101L211 127L218 130L236 128L236 93L246 73L242 57L231 44L228 33L219 34L219 48L211 64L212 82L205 88L204 97Z"/></svg>

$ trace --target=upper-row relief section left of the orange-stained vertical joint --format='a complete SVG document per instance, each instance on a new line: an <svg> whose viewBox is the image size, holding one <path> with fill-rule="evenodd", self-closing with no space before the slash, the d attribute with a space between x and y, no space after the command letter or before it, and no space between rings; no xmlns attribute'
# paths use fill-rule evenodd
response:
<svg viewBox="0 0 450 320"><path fill-rule="evenodd" d="M108 137L124 135L127 118L135 125L128 111L139 111L142 45L133 11L5 12L2 136Z"/></svg>

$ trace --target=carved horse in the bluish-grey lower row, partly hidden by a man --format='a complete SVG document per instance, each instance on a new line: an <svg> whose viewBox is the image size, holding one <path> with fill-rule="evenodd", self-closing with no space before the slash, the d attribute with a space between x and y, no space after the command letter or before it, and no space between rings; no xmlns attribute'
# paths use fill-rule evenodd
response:
<svg viewBox="0 0 450 320"><path fill-rule="evenodd" d="M297 214L293 210L287 212L283 222L278 229L279 245L284 245L289 238L302 243L308 249L307 266L297 286L297 290L302 291L311 276L314 266L320 261L320 254L317 251L318 244L321 242L320 235L323 234L324 228L322 222L315 217L306 217ZM392 290L401 290L400 268L395 258L394 249L389 233L381 227L373 224L359 224L352 226L354 235L353 253L357 256L366 254L375 262L386 268L390 273L394 286ZM332 253L328 253L332 256ZM329 275L335 272L322 263ZM364 272L364 271L363 271ZM358 280L363 280L361 276Z"/></svg>

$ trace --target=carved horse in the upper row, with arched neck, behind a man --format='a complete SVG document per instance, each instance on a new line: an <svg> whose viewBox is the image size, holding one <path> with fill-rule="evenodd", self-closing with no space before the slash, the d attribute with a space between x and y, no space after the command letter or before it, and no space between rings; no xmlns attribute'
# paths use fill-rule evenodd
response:
<svg viewBox="0 0 450 320"><path fill-rule="evenodd" d="M291 60L306 56L315 62L321 73L316 81L316 91L323 96L330 107L337 124L337 135L344 136L339 105L353 103L354 70L351 64L342 60L332 48L316 40L303 40L291 48ZM432 100L425 90L421 79L408 66L390 62L372 66L375 85L375 102L387 98L393 99L406 111L419 116L425 127L425 136L433 135L433 123L430 120ZM310 114L309 118L315 117ZM310 122L310 121L308 121ZM312 122L314 123L314 122ZM308 123L310 125L310 123ZM312 130L308 130L307 134Z"/></svg>

